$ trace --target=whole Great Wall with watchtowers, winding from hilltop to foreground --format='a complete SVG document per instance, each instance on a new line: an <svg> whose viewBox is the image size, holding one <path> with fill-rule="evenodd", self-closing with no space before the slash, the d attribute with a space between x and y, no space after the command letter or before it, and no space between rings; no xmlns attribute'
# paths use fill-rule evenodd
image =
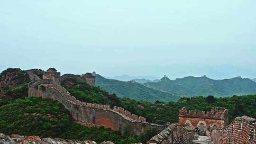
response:
<svg viewBox="0 0 256 144"><path fill-rule="evenodd" d="M179 124L161 126L146 122L146 118L138 117L129 111L94 103L81 102L60 86L60 73L55 69L44 72L40 79L33 71L27 71L32 80L28 87L28 96L45 99L56 99L67 108L76 123L85 126L104 126L123 132L125 129L133 134L140 134L147 128L153 127L160 132L152 137L147 144L194 144L192 141L199 135L207 135L216 144L256 144L256 120L251 117L237 117L228 125L228 110L212 108L210 112L180 110ZM83 77L89 84L94 85L93 74L65 76ZM88 78L88 79L87 79ZM90 81L89 81L90 80Z"/></svg>

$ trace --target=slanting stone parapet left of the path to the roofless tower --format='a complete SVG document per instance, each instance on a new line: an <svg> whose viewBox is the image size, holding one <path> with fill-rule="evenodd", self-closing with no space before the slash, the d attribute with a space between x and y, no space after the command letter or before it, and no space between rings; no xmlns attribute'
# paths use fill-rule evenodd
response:
<svg viewBox="0 0 256 144"><path fill-rule="evenodd" d="M152 137L147 144L192 144L196 138L194 132L188 132L180 124L171 124L158 135Z"/></svg>

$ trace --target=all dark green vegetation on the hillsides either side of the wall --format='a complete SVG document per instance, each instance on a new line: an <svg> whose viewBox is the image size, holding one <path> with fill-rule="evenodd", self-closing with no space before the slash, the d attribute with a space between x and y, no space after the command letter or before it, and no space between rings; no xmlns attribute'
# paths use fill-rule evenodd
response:
<svg viewBox="0 0 256 144"><path fill-rule="evenodd" d="M94 140L98 143L110 140L115 144L146 142L155 135L154 129L149 129L139 136L128 135L129 132L125 133L127 135L121 136L120 132L103 127L86 127L74 124L68 110L58 101L27 98L27 83L20 82L23 79L27 81L26 73L18 72L10 81L12 86L6 87L4 96L0 96L0 133ZM16 87L13 88L14 81L17 80ZM154 103L150 103L129 98L118 98L99 87L88 85L81 79L65 79L62 81L62 86L77 99L123 107L138 116L146 117L148 122L157 124L177 122L179 109L183 107L205 111L210 110L211 107L228 108L229 121L243 115L256 118L256 95L230 98L192 97L181 98L177 102L156 100Z"/></svg>

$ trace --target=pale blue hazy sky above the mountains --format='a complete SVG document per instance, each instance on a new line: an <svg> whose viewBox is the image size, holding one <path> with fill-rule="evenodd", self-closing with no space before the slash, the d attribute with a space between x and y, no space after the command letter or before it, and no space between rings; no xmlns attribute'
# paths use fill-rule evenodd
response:
<svg viewBox="0 0 256 144"><path fill-rule="evenodd" d="M1 0L0 71L256 78L256 0Z"/></svg>

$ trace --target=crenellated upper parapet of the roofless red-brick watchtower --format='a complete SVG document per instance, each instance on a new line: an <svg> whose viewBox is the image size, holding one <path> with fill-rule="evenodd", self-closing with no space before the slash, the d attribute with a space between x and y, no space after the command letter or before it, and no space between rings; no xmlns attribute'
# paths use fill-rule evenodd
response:
<svg viewBox="0 0 256 144"><path fill-rule="evenodd" d="M210 111L195 111L187 110L183 107L179 112L179 117L194 117L194 118L205 118L205 119L217 119L225 120L228 117L228 109L226 108L211 108Z"/></svg>

